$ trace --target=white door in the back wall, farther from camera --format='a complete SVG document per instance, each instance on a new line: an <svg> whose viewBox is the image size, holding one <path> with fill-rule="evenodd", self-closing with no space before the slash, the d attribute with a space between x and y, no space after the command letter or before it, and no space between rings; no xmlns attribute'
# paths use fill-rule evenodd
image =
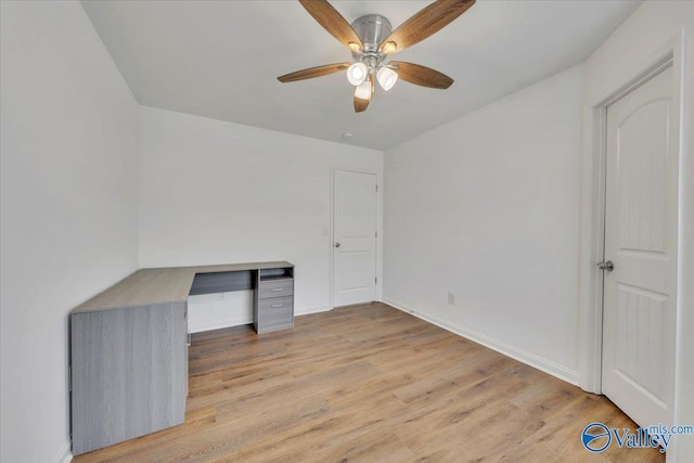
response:
<svg viewBox="0 0 694 463"><path fill-rule="evenodd" d="M376 298L376 176L335 170L333 200L334 305Z"/></svg>

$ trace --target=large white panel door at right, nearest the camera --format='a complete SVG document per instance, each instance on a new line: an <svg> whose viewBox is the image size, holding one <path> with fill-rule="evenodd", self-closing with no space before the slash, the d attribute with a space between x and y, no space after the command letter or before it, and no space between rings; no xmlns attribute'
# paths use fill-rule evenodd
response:
<svg viewBox="0 0 694 463"><path fill-rule="evenodd" d="M674 383L678 151L668 67L607 108L603 393L640 426Z"/></svg>

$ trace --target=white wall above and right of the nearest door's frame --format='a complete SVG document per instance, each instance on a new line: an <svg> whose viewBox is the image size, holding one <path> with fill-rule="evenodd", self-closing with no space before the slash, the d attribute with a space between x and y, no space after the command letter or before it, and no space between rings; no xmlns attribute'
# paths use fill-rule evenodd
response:
<svg viewBox="0 0 694 463"><path fill-rule="evenodd" d="M676 374L674 423L694 423L694 2L646 1L603 42L587 62L587 113L590 106L608 95L609 91L634 74L676 35L684 36L684 75L680 153L680 243L679 243L679 295L678 346ZM592 214L590 205L591 151L590 130L587 130L587 149L583 151L583 213ZM584 227L588 232L590 229ZM588 233L587 233L588 234ZM583 246L583 252L590 252ZM581 272L590 280L587 268ZM586 274L588 273L588 274ZM589 285L586 285L589 287ZM583 293L581 293L583 297ZM668 462L690 462L694 455L694 436L677 436L668 450Z"/></svg>

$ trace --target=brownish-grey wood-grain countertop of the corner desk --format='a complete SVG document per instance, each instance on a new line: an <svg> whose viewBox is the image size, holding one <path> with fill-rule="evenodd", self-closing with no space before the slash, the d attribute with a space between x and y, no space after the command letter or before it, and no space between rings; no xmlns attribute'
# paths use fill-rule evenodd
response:
<svg viewBox="0 0 694 463"><path fill-rule="evenodd" d="M294 267L291 262L250 262L220 266L140 269L83 304L72 313L184 301L196 273L234 272Z"/></svg>

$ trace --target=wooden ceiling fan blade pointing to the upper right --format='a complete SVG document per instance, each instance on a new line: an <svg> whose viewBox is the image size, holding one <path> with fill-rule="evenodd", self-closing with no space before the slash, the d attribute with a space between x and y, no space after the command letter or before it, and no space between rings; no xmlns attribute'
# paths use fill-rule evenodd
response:
<svg viewBox="0 0 694 463"><path fill-rule="evenodd" d="M473 4L475 0L437 0L402 23L381 42L380 49L389 54L412 47L441 30Z"/></svg>

